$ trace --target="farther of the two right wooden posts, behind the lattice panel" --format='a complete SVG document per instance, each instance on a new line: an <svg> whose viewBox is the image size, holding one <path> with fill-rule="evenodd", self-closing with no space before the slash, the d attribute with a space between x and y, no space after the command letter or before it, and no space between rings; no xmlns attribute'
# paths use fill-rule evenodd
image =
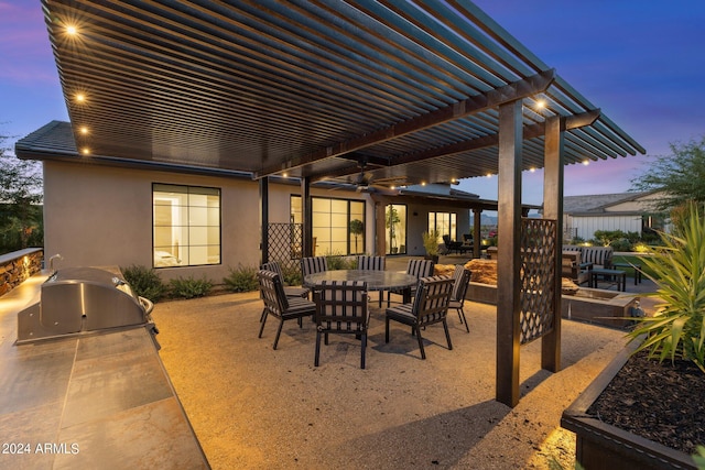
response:
<svg viewBox="0 0 705 470"><path fill-rule="evenodd" d="M545 122L543 217L556 221L555 295L553 331L541 338L541 367L551 372L561 370L561 271L563 248L563 131L561 118Z"/></svg>

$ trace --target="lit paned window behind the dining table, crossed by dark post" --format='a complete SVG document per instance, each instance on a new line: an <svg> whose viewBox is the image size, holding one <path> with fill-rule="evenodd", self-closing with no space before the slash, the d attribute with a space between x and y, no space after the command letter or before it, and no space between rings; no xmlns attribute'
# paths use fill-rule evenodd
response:
<svg viewBox="0 0 705 470"><path fill-rule="evenodd" d="M365 203L351 199L311 198L314 254L365 253ZM301 223L301 196L291 196L291 221Z"/></svg>

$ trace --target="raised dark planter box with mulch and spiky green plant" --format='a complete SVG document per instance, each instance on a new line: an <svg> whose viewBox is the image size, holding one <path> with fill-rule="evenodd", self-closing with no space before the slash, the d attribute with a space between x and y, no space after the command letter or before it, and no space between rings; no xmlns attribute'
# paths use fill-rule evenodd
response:
<svg viewBox="0 0 705 470"><path fill-rule="evenodd" d="M595 468L697 468L705 444L705 218L690 205L643 263L662 303L628 349L563 413L576 460Z"/></svg>

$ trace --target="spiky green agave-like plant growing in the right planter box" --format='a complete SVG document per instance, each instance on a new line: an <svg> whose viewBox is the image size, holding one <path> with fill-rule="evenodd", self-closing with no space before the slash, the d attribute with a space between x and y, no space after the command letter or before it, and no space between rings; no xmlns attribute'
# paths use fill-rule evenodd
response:
<svg viewBox="0 0 705 470"><path fill-rule="evenodd" d="M643 263L657 284L652 295L663 299L653 317L637 318L630 341L644 336L637 351L660 361L685 359L705 372L705 218L688 205L675 220L673 233L661 233L663 247Z"/></svg>

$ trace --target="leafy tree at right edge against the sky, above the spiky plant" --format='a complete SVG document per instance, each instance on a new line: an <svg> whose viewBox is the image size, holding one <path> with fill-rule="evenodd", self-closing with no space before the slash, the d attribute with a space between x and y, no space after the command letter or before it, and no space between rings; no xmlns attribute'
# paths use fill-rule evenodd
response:
<svg viewBox="0 0 705 470"><path fill-rule="evenodd" d="M664 197L654 209L666 211L688 201L705 203L705 135L686 144L671 143L671 155L655 162L640 177L632 179L634 190L659 190Z"/></svg>

